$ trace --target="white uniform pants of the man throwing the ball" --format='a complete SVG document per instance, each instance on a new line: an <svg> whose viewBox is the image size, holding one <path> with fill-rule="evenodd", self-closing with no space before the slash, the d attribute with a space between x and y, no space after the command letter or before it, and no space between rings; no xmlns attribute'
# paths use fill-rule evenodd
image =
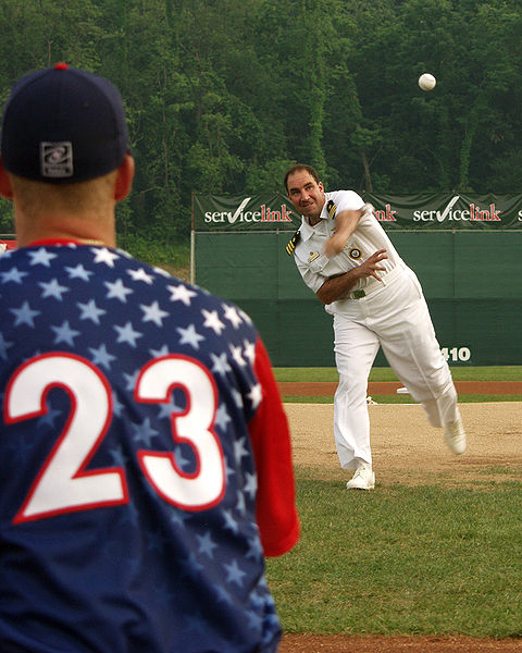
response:
<svg viewBox="0 0 522 653"><path fill-rule="evenodd" d="M343 301L334 316L339 385L334 397L334 435L344 469L357 458L372 464L368 378L378 347L430 423L444 427L459 418L457 392L440 353L421 285L412 270L361 299Z"/></svg>

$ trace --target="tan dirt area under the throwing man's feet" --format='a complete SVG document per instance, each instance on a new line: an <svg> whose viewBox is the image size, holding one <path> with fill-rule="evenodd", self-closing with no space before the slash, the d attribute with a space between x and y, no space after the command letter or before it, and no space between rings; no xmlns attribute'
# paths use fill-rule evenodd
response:
<svg viewBox="0 0 522 653"><path fill-rule="evenodd" d="M296 465L314 468L318 478L347 480L333 438L332 404L285 404ZM431 427L418 404L369 406L377 483L420 484L437 479L463 484L480 478L520 479L522 403L460 404L468 451L453 456L440 429Z"/></svg>

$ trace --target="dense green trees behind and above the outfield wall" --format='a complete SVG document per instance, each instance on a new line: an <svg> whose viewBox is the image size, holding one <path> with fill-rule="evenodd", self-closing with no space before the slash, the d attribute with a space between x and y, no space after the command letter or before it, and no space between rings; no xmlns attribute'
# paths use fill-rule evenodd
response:
<svg viewBox="0 0 522 653"><path fill-rule="evenodd" d="M0 0L0 100L67 61L128 112L120 233L188 237L191 193L520 192L522 0ZM437 86L423 93L419 75ZM0 207L0 231L9 231Z"/></svg>

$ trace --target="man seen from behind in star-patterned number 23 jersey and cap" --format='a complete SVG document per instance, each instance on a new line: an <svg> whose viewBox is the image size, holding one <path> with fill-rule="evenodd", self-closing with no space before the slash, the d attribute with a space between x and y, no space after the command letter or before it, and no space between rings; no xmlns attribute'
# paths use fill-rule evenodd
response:
<svg viewBox="0 0 522 653"><path fill-rule="evenodd" d="M14 86L0 193L0 649L273 653L264 556L299 537L287 420L238 307L115 247L122 101Z"/></svg>

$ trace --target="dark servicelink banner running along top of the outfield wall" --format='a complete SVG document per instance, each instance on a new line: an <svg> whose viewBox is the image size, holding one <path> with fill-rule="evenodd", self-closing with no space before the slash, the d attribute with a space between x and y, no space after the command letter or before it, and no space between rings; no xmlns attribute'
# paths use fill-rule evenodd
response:
<svg viewBox="0 0 522 653"><path fill-rule="evenodd" d="M522 230L522 195L364 194L375 218L389 230ZM196 232L295 232L301 223L282 193L194 195Z"/></svg>

